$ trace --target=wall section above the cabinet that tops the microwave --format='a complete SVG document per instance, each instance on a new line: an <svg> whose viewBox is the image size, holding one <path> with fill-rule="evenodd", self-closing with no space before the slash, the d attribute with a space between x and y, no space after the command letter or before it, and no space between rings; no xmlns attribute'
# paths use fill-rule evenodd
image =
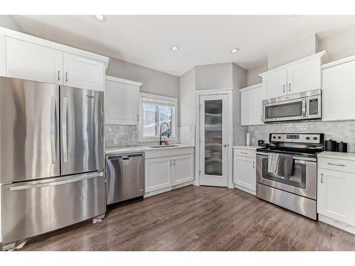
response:
<svg viewBox="0 0 355 266"><path fill-rule="evenodd" d="M295 43L285 42L283 48L268 53L268 70L314 55L317 52L316 47L317 38L315 35Z"/></svg>

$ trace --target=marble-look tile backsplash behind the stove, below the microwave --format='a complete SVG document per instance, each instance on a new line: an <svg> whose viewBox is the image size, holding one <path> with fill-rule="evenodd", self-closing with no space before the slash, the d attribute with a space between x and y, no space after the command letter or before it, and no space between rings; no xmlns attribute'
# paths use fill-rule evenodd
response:
<svg viewBox="0 0 355 266"><path fill-rule="evenodd" d="M251 135L251 145L258 145L258 140L268 143L269 133L324 133L325 140L348 143L348 152L355 153L355 121L273 123L246 128Z"/></svg>

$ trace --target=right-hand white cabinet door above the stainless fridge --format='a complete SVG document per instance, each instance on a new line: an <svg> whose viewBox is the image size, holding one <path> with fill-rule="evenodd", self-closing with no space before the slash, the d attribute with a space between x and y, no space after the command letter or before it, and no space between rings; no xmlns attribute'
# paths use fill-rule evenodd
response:
<svg viewBox="0 0 355 266"><path fill-rule="evenodd" d="M104 91L104 62L64 52L63 70L66 86Z"/></svg>

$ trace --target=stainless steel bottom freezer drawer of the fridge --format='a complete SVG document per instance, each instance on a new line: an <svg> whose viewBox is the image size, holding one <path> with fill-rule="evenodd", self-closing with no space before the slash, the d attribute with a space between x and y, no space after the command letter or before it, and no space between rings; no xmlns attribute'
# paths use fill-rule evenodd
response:
<svg viewBox="0 0 355 266"><path fill-rule="evenodd" d="M1 186L3 244L104 214L104 172Z"/></svg>

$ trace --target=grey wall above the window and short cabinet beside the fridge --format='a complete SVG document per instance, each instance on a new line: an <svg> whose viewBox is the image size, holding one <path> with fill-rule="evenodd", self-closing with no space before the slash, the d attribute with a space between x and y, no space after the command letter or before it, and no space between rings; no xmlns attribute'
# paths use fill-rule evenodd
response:
<svg viewBox="0 0 355 266"><path fill-rule="evenodd" d="M110 58L107 74L142 82L141 92L179 97L179 77L116 58Z"/></svg>

